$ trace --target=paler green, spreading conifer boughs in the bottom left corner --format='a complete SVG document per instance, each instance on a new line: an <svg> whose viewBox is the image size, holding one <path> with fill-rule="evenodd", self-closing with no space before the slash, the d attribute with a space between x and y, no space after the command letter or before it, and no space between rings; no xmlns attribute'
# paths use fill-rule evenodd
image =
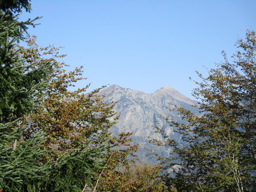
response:
<svg viewBox="0 0 256 192"><path fill-rule="evenodd" d="M4 127L0 129L2 131ZM5 191L36 191L34 189L49 172L49 166L40 162L41 156L46 154L42 145L43 134L37 132L26 142L20 141L15 150L10 143L20 138L20 134L15 131L11 134L0 136L0 188Z"/></svg>

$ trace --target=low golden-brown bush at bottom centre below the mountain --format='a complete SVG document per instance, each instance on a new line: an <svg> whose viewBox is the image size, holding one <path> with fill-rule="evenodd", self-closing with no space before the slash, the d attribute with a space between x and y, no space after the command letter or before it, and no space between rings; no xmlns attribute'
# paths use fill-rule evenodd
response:
<svg viewBox="0 0 256 192"><path fill-rule="evenodd" d="M159 165L147 165L137 162L137 164L106 170L98 191L167 191L163 182L158 178L160 167Z"/></svg>

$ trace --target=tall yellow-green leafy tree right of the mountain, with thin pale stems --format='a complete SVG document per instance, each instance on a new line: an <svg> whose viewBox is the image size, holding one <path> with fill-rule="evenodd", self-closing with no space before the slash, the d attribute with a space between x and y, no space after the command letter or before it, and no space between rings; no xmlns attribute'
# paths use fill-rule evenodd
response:
<svg viewBox="0 0 256 192"><path fill-rule="evenodd" d="M255 32L237 41L229 62L216 64L209 76L196 82L194 96L201 116L176 108L186 123L170 119L186 144L166 137L173 148L165 181L178 191L255 191ZM174 177L170 177L174 174Z"/></svg>

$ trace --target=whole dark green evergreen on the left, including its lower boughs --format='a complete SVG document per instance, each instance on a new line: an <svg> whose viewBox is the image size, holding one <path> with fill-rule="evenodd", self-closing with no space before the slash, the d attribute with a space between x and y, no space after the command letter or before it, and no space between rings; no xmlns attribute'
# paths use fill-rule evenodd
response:
<svg viewBox="0 0 256 192"><path fill-rule="evenodd" d="M11 10L6 6L0 11L0 190L82 191L91 184L95 171L103 168L104 158L98 157L102 157L106 142L94 148L90 142L83 142L78 150L60 154L53 161L52 150L45 145L47 133L43 127L23 135L29 127L21 119L35 113L48 96L49 83L56 80L50 74L57 67L53 58L41 65L38 60L28 62L33 59L24 58L22 50L16 47L33 20L18 22L11 11L20 12L26 6L30 5L18 3L16 7L11 5ZM66 90L69 83L58 85L55 93Z"/></svg>

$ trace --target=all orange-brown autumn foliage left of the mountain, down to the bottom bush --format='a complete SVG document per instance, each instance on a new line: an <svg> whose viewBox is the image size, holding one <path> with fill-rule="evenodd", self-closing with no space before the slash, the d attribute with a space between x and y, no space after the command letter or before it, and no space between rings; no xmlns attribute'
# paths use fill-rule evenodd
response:
<svg viewBox="0 0 256 192"><path fill-rule="evenodd" d="M35 36L28 37L28 47L19 47L26 65L38 63L36 67L40 67L53 58L65 56L58 55L59 48L53 46L39 48L35 40ZM112 110L115 103L105 103L104 96L98 95L103 87L90 93L86 93L89 85L69 91L70 86L83 80L81 68L67 72L64 68L68 66L64 63L53 63L48 87L37 95L41 98L38 108L23 119L25 140L34 132L45 134L48 155L41 161L58 162L63 156L69 157L84 147L90 151L104 145L104 151L94 157L101 162L102 168L92 168L94 176L83 184L84 190L160 191L163 183L157 180L159 166L139 163L135 155L138 146L131 144L132 133L113 136L109 132L118 114Z"/></svg>

